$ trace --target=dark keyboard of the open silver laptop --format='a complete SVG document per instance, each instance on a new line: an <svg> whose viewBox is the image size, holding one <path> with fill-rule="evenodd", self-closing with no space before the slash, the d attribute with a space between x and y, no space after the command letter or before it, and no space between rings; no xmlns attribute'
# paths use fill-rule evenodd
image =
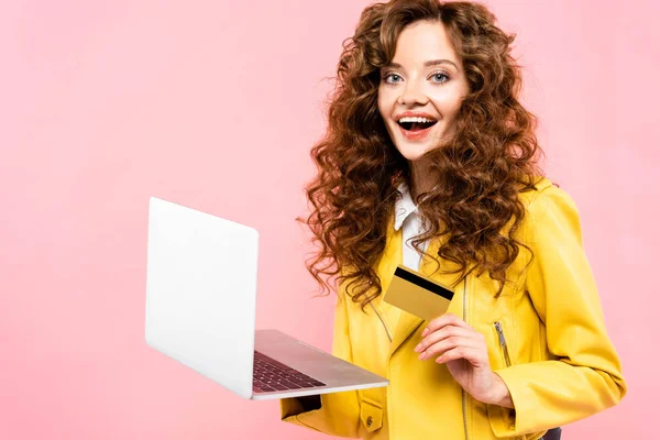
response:
<svg viewBox="0 0 660 440"><path fill-rule="evenodd" d="M252 389L254 393L316 388L319 386L326 386L326 384L286 366L263 353L254 352L254 372L252 377Z"/></svg>

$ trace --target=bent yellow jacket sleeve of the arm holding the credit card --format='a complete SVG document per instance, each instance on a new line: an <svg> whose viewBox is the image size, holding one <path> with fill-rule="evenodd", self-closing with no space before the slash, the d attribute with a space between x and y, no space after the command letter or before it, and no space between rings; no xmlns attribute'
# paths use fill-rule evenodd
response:
<svg viewBox="0 0 660 440"><path fill-rule="evenodd" d="M495 372L515 406L515 410L487 406L497 437L580 420L616 405L627 391L582 246L575 204L550 186L530 202L525 222L524 233L534 252L526 289L546 324L548 349L557 360Z"/></svg>

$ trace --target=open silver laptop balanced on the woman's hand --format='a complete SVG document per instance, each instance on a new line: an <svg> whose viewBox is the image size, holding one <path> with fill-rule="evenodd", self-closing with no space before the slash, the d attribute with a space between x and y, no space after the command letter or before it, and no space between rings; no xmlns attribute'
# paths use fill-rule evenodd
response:
<svg viewBox="0 0 660 440"><path fill-rule="evenodd" d="M145 340L248 399L387 386L278 330L255 330L255 229L150 199Z"/></svg>

